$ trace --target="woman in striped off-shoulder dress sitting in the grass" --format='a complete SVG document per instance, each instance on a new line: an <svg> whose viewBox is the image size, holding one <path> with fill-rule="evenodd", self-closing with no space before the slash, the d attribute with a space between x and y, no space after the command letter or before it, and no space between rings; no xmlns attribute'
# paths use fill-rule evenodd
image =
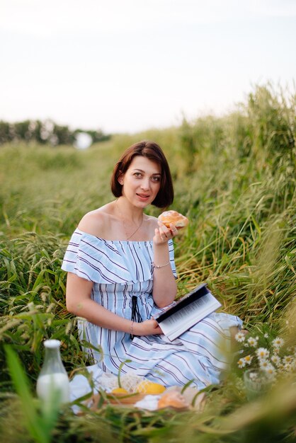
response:
<svg viewBox="0 0 296 443"><path fill-rule="evenodd" d="M68 271L67 309L86 319L84 338L103 350L103 356L92 351L98 366L118 374L125 362L123 373L165 386L192 379L198 389L219 383L227 363L221 341L241 326L239 318L212 313L172 342L153 318L177 292L178 229L143 212L150 204L164 208L173 202L161 148L149 141L130 146L115 165L111 189L116 200L81 219L62 265Z"/></svg>

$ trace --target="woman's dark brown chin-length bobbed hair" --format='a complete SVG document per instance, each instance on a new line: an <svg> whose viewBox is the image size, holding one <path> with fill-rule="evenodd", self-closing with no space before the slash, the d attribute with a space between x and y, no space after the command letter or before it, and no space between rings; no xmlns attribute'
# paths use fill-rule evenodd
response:
<svg viewBox="0 0 296 443"><path fill-rule="evenodd" d="M115 164L111 177L111 190L113 195L115 197L123 195L123 185L120 185L118 178L121 174L126 173L135 156L147 157L147 159L154 161L161 167L160 188L152 205L159 208L165 208L171 205L173 202L173 181L171 180L169 163L167 162L161 147L149 140L143 140L142 142L132 144L132 146L125 150L119 161Z"/></svg>

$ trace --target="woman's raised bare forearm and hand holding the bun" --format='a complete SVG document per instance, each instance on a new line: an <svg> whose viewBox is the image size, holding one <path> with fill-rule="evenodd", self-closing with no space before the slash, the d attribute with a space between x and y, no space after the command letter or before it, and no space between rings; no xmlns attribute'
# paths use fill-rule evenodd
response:
<svg viewBox="0 0 296 443"><path fill-rule="evenodd" d="M154 275L153 275L153 299L159 308L164 308L173 303L177 294L177 284L171 265L169 263L168 241L178 234L173 224L167 228L159 222L159 228L155 229L153 238L154 247Z"/></svg>

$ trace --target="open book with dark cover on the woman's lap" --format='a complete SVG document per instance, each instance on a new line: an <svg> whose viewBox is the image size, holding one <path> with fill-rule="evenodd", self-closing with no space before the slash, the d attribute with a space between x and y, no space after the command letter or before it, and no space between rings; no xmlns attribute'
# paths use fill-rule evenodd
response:
<svg viewBox="0 0 296 443"><path fill-rule="evenodd" d="M207 289L206 283L178 299L173 306L154 317L169 340L175 340L191 326L220 308L221 303Z"/></svg>

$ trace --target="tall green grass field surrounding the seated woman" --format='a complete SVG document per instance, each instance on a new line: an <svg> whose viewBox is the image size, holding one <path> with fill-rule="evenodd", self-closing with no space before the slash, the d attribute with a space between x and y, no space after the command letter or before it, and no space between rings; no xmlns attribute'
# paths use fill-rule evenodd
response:
<svg viewBox="0 0 296 443"><path fill-rule="evenodd" d="M295 368L251 403L234 368L207 390L202 413L109 405L77 417L69 408L42 410L35 399L45 338L62 340L71 376L89 363L65 309L60 265L81 216L113 198L119 154L140 139L163 147L175 183L171 209L190 219L176 238L178 294L207 282L250 334L296 345L295 98L258 86L231 115L116 135L86 151L0 146L1 441L295 441Z"/></svg>

